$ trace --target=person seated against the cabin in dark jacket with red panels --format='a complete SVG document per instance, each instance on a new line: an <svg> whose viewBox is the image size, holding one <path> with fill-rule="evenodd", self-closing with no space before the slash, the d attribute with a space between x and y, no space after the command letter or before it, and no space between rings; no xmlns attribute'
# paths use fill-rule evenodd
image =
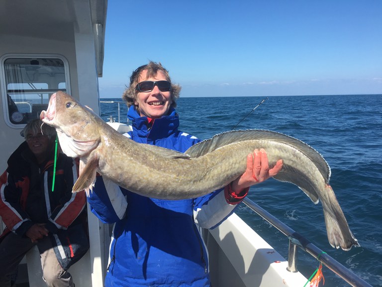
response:
<svg viewBox="0 0 382 287"><path fill-rule="evenodd" d="M89 249L85 192L72 193L76 160L55 156L56 131L41 125L37 119L25 126L26 141L0 177L0 216L6 225L0 236L0 287L11 286L18 264L35 245L47 286L73 287L68 269Z"/></svg>

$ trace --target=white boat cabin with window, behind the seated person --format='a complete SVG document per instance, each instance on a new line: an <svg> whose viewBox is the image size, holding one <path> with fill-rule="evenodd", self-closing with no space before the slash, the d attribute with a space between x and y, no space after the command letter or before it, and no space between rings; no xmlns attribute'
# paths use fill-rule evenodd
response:
<svg viewBox="0 0 382 287"><path fill-rule="evenodd" d="M1 173L24 141L25 124L39 117L54 92L69 93L99 113L106 9L106 0L0 1ZM103 286L110 229L89 214L89 231L91 249L71 268L77 287ZM22 263L29 286L45 286L37 249Z"/></svg>

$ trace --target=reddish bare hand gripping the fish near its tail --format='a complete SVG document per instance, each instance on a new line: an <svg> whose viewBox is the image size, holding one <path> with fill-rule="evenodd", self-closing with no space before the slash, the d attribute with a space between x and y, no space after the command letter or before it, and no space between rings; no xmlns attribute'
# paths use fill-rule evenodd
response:
<svg viewBox="0 0 382 287"><path fill-rule="evenodd" d="M231 188L239 193L244 188L263 182L275 176L283 167L283 160L279 159L276 165L269 169L268 156L265 149L255 149L253 154L247 156L247 169L237 179L232 181Z"/></svg>

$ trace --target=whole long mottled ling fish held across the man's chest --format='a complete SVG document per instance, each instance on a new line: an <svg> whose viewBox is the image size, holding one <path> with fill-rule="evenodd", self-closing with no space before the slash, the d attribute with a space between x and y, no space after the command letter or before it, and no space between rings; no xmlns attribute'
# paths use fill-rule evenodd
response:
<svg viewBox="0 0 382 287"><path fill-rule="evenodd" d="M194 198L229 184L245 171L248 153L264 148L270 166L283 159L275 179L297 185L314 203L321 200L329 243L344 250L359 246L329 185L329 165L316 150L294 138L262 130L232 131L180 153L135 143L63 92L51 96L40 119L56 128L64 153L80 157L75 192L89 192L99 172L144 196Z"/></svg>

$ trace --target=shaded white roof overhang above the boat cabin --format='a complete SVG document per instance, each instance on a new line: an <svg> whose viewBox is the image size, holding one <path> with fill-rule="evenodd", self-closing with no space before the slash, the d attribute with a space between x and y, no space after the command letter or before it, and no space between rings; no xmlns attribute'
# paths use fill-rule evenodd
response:
<svg viewBox="0 0 382 287"><path fill-rule="evenodd" d="M89 5L90 3L90 5ZM90 18L84 17L89 15ZM98 77L102 76L104 27L107 0L3 0L0 1L0 34L65 39L73 34L73 25L89 33L92 22L96 39ZM96 27L96 28L95 28Z"/></svg>

